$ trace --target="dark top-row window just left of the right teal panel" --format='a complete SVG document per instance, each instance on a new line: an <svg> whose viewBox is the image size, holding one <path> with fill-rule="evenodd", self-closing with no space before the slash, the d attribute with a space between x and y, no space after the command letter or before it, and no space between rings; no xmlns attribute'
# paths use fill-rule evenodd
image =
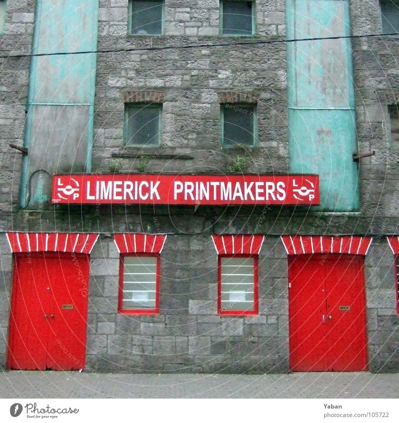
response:
<svg viewBox="0 0 399 423"><path fill-rule="evenodd" d="M253 35L254 9L254 1L221 0L221 33L223 35Z"/></svg>

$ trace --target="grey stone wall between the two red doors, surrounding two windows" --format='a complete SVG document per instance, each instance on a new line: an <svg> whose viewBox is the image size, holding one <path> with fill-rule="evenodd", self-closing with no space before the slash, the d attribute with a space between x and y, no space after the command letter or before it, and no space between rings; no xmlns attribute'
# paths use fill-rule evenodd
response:
<svg viewBox="0 0 399 423"><path fill-rule="evenodd" d="M160 314L117 313L119 255L101 240L91 256L87 367L133 372L286 372L286 258L278 238L259 260L258 316L217 314L217 254L210 236L168 235Z"/></svg>

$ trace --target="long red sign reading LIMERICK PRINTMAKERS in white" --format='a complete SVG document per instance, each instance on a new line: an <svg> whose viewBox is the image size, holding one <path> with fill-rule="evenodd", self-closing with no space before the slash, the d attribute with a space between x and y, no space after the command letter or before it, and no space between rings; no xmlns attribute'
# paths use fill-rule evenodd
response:
<svg viewBox="0 0 399 423"><path fill-rule="evenodd" d="M315 175L54 175L58 204L319 204Z"/></svg>

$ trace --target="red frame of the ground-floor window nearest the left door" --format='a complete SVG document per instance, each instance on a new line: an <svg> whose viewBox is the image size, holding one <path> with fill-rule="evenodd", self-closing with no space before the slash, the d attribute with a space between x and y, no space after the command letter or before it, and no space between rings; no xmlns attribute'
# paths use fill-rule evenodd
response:
<svg viewBox="0 0 399 423"><path fill-rule="evenodd" d="M124 259L125 257L156 257L156 276L155 276L155 308L123 308L123 277L124 277ZM159 314L160 297L160 275L161 260L160 255L156 253L125 253L119 256L119 298L118 313L121 314Z"/></svg>

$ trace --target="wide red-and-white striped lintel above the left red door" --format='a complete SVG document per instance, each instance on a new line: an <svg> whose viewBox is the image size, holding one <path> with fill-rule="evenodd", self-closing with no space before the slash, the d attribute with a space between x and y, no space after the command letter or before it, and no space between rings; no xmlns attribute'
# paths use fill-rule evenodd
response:
<svg viewBox="0 0 399 423"><path fill-rule="evenodd" d="M68 234L45 232L7 232L12 253L58 251L90 254L98 234Z"/></svg>

